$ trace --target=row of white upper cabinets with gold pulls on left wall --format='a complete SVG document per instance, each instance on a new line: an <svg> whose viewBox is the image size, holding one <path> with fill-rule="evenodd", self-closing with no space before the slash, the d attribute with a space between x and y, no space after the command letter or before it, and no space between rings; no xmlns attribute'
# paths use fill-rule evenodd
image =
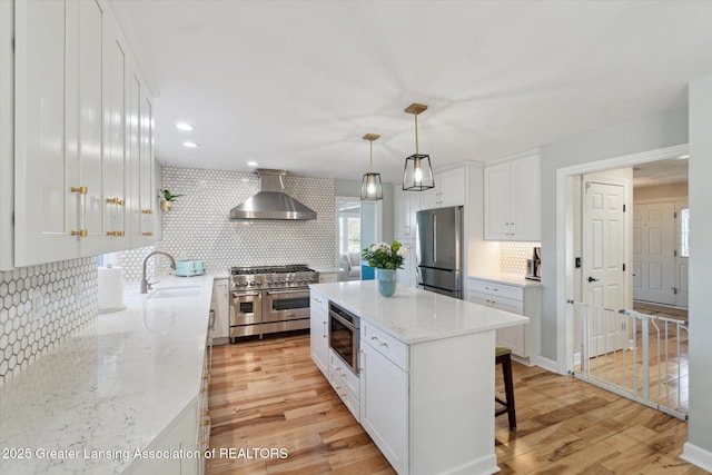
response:
<svg viewBox="0 0 712 475"><path fill-rule="evenodd" d="M13 6L13 264L127 249L131 61L120 29L96 0ZM152 180L152 106L142 93L141 154Z"/></svg>

